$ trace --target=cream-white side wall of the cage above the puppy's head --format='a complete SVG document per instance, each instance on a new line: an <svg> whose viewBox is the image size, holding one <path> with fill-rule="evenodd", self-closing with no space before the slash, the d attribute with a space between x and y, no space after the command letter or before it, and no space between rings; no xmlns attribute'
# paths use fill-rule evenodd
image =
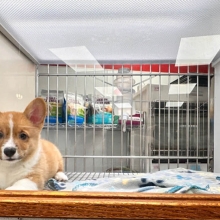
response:
<svg viewBox="0 0 220 220"><path fill-rule="evenodd" d="M1 32L0 48L0 111L23 111L35 97L35 65Z"/></svg>

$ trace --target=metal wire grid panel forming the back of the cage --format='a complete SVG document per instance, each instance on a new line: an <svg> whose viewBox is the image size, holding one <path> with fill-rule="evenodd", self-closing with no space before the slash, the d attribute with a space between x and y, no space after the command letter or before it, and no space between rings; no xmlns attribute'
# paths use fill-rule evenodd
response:
<svg viewBox="0 0 220 220"><path fill-rule="evenodd" d="M42 137L59 147L67 172L212 170L212 72L195 68L40 65Z"/></svg>

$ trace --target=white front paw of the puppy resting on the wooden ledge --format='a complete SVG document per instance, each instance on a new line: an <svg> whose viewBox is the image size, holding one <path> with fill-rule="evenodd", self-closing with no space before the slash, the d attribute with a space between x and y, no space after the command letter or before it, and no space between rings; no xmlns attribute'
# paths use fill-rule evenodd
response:
<svg viewBox="0 0 220 220"><path fill-rule="evenodd" d="M12 186L7 187L6 190L37 190L37 184L30 179L21 179L15 182Z"/></svg>

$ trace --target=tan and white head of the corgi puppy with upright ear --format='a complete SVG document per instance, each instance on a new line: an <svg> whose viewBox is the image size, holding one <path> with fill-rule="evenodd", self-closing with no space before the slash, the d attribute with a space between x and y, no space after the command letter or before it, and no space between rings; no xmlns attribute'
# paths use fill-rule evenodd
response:
<svg viewBox="0 0 220 220"><path fill-rule="evenodd" d="M0 113L0 160L11 163L31 155L38 148L45 116L41 98L34 99L23 113Z"/></svg>

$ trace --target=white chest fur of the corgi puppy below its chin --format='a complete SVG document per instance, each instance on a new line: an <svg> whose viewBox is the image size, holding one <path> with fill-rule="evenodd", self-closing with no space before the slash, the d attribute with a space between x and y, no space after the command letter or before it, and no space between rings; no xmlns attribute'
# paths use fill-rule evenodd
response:
<svg viewBox="0 0 220 220"><path fill-rule="evenodd" d="M41 146L38 147L34 156L26 162L0 160L0 189L12 186L30 173L40 158L40 151Z"/></svg>

